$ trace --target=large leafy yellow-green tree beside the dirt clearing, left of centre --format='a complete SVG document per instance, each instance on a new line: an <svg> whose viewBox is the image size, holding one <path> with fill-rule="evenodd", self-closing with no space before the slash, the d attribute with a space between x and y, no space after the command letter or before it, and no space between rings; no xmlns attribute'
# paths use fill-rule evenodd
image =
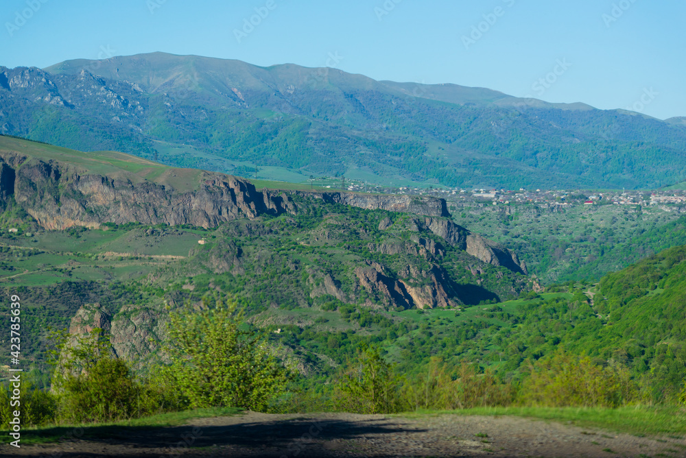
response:
<svg viewBox="0 0 686 458"><path fill-rule="evenodd" d="M286 390L290 372L263 337L241 329L242 317L233 300L171 315L167 374L191 407L265 411Z"/></svg>

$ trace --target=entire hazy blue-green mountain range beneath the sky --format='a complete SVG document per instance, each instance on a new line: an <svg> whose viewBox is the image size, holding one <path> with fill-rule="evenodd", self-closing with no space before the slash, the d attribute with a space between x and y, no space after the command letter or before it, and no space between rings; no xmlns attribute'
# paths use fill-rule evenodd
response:
<svg viewBox="0 0 686 458"><path fill-rule="evenodd" d="M486 88L149 53L0 67L0 133L231 173L387 184L656 188L686 180L686 124Z"/></svg>

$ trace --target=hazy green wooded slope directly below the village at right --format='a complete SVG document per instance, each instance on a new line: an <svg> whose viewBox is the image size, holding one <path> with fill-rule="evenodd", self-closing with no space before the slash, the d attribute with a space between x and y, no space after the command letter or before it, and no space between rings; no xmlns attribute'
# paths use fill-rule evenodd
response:
<svg viewBox="0 0 686 458"><path fill-rule="evenodd" d="M585 197L584 197L585 198ZM683 208L455 202L453 220L516 250L545 284L598 281L641 258L686 244Z"/></svg>

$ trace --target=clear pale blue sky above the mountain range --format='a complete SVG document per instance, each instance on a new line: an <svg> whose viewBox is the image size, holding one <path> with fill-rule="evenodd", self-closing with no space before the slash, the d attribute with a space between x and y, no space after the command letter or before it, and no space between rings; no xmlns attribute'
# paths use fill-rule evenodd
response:
<svg viewBox="0 0 686 458"><path fill-rule="evenodd" d="M2 0L0 65L165 51L665 119L686 116L685 19L683 0Z"/></svg>

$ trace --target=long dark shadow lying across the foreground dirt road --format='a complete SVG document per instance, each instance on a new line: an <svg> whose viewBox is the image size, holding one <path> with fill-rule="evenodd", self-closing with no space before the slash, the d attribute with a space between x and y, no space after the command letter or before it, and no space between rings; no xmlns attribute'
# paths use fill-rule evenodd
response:
<svg viewBox="0 0 686 458"><path fill-rule="evenodd" d="M253 422L246 418L244 422L222 426L171 426L154 429L139 426L93 426L85 428L80 435L82 441L88 442L87 445L82 441L67 440L51 446L35 446L36 455L32 456L302 458L340 457L350 453L351 456L364 457L369 453L373 455L375 442L386 442L386 434L401 433L412 441L413 434L425 431L405 428L383 418L341 420L308 416ZM41 435L55 437L68 435L70 432L73 433L73 430L55 428L43 430ZM3 447L0 457L16 456L5 455L9 451Z"/></svg>

